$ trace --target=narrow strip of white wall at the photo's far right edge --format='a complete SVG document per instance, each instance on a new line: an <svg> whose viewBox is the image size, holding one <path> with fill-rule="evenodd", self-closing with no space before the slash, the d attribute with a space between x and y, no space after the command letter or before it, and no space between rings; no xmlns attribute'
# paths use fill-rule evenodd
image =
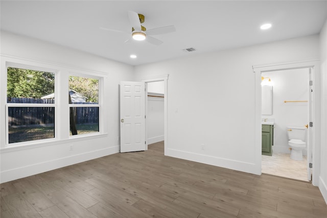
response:
<svg viewBox="0 0 327 218"><path fill-rule="evenodd" d="M327 202L327 20L320 32L321 149L319 189Z"/></svg>

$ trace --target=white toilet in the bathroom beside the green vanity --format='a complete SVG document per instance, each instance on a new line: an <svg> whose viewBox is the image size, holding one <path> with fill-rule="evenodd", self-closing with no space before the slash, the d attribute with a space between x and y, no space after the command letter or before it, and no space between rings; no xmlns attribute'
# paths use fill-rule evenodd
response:
<svg viewBox="0 0 327 218"><path fill-rule="evenodd" d="M307 148L306 128L304 127L287 127L288 145L291 149L292 160L303 160L302 150Z"/></svg>

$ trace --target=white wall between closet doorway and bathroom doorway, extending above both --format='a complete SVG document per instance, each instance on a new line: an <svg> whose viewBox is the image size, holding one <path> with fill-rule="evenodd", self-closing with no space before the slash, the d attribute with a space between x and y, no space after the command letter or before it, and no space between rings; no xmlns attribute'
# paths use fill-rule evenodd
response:
<svg viewBox="0 0 327 218"><path fill-rule="evenodd" d="M252 65L311 59L319 59L318 35L195 53L134 70L137 81L169 74L166 155L261 174Z"/></svg>

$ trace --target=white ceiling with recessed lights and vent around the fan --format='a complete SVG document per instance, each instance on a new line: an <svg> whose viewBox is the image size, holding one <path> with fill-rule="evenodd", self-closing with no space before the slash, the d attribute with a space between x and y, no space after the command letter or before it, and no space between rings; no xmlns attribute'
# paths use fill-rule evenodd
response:
<svg viewBox="0 0 327 218"><path fill-rule="evenodd" d="M159 46L129 40L127 11L145 15ZM130 65L318 34L326 1L1 1L1 30L54 42ZM260 30L263 23L272 28ZM183 49L193 47L195 52ZM137 55L131 59L130 54Z"/></svg>

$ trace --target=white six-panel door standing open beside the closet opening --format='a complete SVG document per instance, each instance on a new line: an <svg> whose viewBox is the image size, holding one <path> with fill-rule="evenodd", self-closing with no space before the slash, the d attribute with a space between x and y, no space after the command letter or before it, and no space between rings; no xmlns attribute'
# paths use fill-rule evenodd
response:
<svg viewBox="0 0 327 218"><path fill-rule="evenodd" d="M121 153L146 150L145 83L121 82Z"/></svg>

